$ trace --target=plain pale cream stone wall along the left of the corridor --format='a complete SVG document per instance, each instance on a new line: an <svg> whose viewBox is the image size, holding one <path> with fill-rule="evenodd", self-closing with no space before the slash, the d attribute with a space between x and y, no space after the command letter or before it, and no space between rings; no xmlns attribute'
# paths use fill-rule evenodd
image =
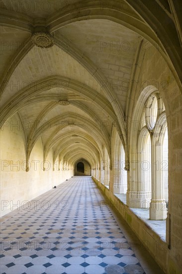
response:
<svg viewBox="0 0 182 274"><path fill-rule="evenodd" d="M16 117L9 121L17 124ZM71 177L71 170L53 171L52 153L49 152L46 170L43 171L43 146L39 138L30 154L30 170L25 171L25 148L23 132L17 127L3 127L0 132L0 200L1 216L23 206L25 201L30 201L42 193L50 190L53 186L64 182ZM14 205L14 206L13 206ZM17 205L17 206L16 206Z"/></svg>

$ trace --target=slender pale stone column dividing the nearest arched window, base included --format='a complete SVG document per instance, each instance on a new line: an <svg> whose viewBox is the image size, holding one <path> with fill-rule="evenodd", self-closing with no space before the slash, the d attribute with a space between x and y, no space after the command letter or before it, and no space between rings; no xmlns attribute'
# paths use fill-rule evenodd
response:
<svg viewBox="0 0 182 274"><path fill-rule="evenodd" d="M167 218L168 200L168 135L166 113L162 112L152 136L152 200L150 219Z"/></svg>

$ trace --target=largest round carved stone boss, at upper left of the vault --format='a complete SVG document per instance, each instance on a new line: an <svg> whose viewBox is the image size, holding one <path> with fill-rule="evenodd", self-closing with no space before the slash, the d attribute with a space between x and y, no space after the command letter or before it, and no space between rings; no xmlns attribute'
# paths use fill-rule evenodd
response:
<svg viewBox="0 0 182 274"><path fill-rule="evenodd" d="M48 32L35 32L31 36L32 43L37 47L49 48L54 45L54 39Z"/></svg>

